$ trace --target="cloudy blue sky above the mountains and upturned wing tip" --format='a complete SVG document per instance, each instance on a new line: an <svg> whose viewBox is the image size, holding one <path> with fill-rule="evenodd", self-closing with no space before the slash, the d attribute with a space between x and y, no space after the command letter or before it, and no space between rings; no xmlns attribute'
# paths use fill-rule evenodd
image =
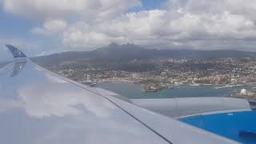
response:
<svg viewBox="0 0 256 144"><path fill-rule="evenodd" d="M38 56L110 42L256 51L256 1L0 0L0 48Z"/></svg>

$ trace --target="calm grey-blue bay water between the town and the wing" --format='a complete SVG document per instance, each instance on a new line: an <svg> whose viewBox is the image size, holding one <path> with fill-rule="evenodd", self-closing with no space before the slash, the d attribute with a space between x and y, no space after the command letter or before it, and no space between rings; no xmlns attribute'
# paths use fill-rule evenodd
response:
<svg viewBox="0 0 256 144"><path fill-rule="evenodd" d="M128 98L192 98L192 97L225 97L244 87L214 89L214 86L176 86L173 89L155 93L142 93L141 86L134 83L99 83L98 87L114 91Z"/></svg>

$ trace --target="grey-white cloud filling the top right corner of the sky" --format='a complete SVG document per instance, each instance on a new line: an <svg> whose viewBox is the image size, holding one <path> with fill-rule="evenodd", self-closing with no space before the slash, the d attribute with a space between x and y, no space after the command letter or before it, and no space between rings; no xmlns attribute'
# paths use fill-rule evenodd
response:
<svg viewBox="0 0 256 144"><path fill-rule="evenodd" d="M169 10L180 9L194 14L230 14L244 15L256 20L256 1L251 0L168 0L166 6Z"/></svg>

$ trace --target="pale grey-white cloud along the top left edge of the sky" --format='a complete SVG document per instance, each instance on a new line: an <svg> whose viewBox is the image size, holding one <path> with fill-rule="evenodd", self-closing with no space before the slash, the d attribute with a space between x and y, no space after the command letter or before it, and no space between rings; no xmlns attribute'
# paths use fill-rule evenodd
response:
<svg viewBox="0 0 256 144"><path fill-rule="evenodd" d="M131 7L141 6L139 0L3 0L3 9L29 18L111 18Z"/></svg>

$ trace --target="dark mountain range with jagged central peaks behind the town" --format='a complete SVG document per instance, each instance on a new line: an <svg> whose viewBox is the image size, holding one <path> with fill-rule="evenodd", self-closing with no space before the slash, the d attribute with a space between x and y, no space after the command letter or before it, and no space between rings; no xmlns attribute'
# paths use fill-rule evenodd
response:
<svg viewBox="0 0 256 144"><path fill-rule="evenodd" d="M246 58L256 57L256 52L240 50L152 50L132 43L108 46L91 51L69 51L32 58L35 62L60 62L90 59L94 61L119 61L146 58Z"/></svg>

